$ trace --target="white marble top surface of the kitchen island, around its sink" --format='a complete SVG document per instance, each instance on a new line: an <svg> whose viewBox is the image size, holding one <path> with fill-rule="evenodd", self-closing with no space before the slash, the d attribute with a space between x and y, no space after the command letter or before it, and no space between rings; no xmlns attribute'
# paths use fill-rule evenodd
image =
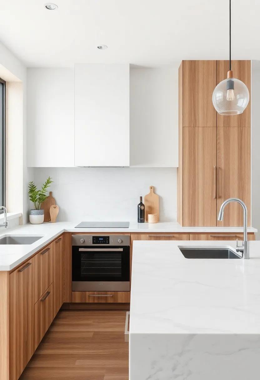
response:
<svg viewBox="0 0 260 380"><path fill-rule="evenodd" d="M134 241L134 334L260 334L260 241L250 260L187 259L179 246L234 241Z"/></svg>

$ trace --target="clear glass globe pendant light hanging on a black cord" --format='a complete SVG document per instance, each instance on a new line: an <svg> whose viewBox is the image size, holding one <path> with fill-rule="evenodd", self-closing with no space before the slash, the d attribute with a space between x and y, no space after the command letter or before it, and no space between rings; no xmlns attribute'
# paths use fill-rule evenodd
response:
<svg viewBox="0 0 260 380"><path fill-rule="evenodd" d="M229 0L229 71L227 79L215 87L212 102L220 115L241 114L249 102L249 91L246 85L234 78L231 70L231 0Z"/></svg>

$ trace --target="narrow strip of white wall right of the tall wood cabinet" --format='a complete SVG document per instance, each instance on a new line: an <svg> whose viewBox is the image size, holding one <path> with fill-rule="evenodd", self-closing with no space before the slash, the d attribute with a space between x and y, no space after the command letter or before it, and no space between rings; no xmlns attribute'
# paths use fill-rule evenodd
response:
<svg viewBox="0 0 260 380"><path fill-rule="evenodd" d="M252 60L251 76L251 215L260 239L260 61Z"/></svg>

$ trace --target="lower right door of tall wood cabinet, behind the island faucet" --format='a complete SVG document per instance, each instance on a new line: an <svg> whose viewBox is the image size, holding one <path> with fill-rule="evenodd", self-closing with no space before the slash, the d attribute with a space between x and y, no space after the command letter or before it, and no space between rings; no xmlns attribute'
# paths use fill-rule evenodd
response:
<svg viewBox="0 0 260 380"><path fill-rule="evenodd" d="M228 198L239 198L247 206L247 223L251 225L250 128L217 128L217 213ZM238 203L225 207L218 226L243 226L243 210Z"/></svg>

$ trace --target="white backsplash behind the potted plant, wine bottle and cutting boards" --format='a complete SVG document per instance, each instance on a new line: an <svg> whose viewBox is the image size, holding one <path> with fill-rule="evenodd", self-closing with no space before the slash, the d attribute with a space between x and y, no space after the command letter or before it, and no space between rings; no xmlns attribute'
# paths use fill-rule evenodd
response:
<svg viewBox="0 0 260 380"><path fill-rule="evenodd" d="M48 176L60 221L136 221L139 196L155 187L160 221L176 220L176 168L34 168L36 184Z"/></svg>

